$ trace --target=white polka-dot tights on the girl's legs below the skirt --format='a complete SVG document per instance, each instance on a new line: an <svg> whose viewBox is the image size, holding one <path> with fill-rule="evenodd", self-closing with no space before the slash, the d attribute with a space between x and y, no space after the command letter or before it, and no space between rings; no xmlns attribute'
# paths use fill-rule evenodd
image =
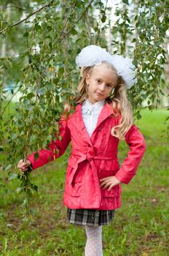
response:
<svg viewBox="0 0 169 256"><path fill-rule="evenodd" d="M85 256L103 256L102 248L102 226L86 226L87 242L85 246Z"/></svg>

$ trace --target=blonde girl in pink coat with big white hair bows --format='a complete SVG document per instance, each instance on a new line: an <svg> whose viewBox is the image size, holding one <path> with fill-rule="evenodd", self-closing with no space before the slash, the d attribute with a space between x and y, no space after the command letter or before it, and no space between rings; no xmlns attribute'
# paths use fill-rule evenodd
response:
<svg viewBox="0 0 169 256"><path fill-rule="evenodd" d="M38 159L34 152L17 167L25 171L31 165L35 170L60 157L71 141L63 203L68 208L68 222L85 226L85 255L101 256L102 226L111 222L114 210L121 206L120 184L128 184L135 175L146 143L133 124L127 99L127 89L135 83L130 59L89 45L76 57L76 65L81 67L79 95L74 98L74 113L68 115L70 108L65 108L60 118L61 140L57 135L48 149L38 151ZM121 166L119 140L130 147Z"/></svg>

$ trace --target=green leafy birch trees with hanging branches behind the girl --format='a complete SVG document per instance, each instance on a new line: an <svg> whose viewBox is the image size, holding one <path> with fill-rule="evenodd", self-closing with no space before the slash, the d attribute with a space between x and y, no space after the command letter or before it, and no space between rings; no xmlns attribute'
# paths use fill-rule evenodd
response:
<svg viewBox="0 0 169 256"><path fill-rule="evenodd" d="M138 83L128 96L136 118L141 118L145 99L149 110L159 104L166 87L168 1L118 1L115 23L107 4L94 0L1 2L1 170L13 167L9 177L17 177L18 159L55 138L64 102L76 93L79 70L74 59L86 45L109 47L111 53L133 58ZM11 99L21 96L7 113L9 86Z"/></svg>

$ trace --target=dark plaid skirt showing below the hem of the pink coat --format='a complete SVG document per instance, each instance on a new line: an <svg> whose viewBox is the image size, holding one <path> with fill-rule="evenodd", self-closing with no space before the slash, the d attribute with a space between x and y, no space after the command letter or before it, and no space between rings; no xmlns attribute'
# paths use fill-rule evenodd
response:
<svg viewBox="0 0 169 256"><path fill-rule="evenodd" d="M70 209L67 210L68 222L76 225L87 225L98 227L109 225L114 218L115 210L95 210L95 209Z"/></svg>

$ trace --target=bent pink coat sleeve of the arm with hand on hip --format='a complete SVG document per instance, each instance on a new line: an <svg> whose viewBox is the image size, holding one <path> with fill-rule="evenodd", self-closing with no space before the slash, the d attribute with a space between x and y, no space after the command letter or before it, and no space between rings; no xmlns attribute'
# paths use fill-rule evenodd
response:
<svg viewBox="0 0 169 256"><path fill-rule="evenodd" d="M140 164L141 159L144 157L144 153L146 151L146 141L135 124L133 124L126 133L125 141L130 147L130 151L127 154L127 158L125 158L124 162L119 168L116 177L122 183L128 184L133 176L135 176L138 165Z"/></svg>

